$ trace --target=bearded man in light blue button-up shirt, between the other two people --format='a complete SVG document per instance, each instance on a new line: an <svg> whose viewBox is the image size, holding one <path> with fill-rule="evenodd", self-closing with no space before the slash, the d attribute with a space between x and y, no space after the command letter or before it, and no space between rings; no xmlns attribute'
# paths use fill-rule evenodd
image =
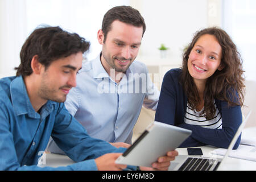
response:
<svg viewBox="0 0 256 182"><path fill-rule="evenodd" d="M135 61L145 28L138 10L130 6L110 9L98 31L102 52L82 64L77 86L65 102L90 136L117 147L131 144L142 105L155 110L158 103L159 91L146 65ZM49 151L63 153L52 142Z"/></svg>

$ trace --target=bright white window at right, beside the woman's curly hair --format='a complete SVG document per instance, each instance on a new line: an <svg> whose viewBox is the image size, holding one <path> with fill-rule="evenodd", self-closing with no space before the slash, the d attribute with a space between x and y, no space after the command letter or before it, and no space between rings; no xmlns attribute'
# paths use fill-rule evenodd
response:
<svg viewBox="0 0 256 182"><path fill-rule="evenodd" d="M246 80L256 81L256 1L223 1L222 27L232 36L243 59Z"/></svg>

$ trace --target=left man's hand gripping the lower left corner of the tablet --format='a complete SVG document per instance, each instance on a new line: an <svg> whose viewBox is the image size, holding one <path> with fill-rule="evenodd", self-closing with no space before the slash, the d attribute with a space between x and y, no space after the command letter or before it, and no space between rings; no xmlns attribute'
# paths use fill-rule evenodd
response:
<svg viewBox="0 0 256 182"><path fill-rule="evenodd" d="M105 154L95 159L96 166L99 171L121 171L127 165L115 164L115 160L122 155L122 153Z"/></svg>

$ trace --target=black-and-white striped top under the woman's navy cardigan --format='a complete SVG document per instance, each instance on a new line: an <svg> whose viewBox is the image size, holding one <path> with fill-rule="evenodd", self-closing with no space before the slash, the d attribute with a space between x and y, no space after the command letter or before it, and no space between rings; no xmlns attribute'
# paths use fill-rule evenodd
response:
<svg viewBox="0 0 256 182"><path fill-rule="evenodd" d="M222 129L221 113L215 103L214 106L216 108L216 113L214 117L212 119L206 119L205 115L200 116L201 112L204 110L204 107L202 110L196 111L194 109L191 109L191 107L189 107L189 105L187 104L187 110L184 118L185 123L189 125L201 126L207 129Z"/></svg>

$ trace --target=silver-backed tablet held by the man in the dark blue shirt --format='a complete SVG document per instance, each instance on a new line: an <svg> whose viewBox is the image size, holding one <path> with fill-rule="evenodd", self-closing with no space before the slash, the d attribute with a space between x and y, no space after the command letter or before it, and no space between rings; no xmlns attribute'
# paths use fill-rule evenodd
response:
<svg viewBox="0 0 256 182"><path fill-rule="evenodd" d="M160 156L175 150L191 134L191 130L155 121L115 160L115 163L152 167L151 164Z"/></svg>

